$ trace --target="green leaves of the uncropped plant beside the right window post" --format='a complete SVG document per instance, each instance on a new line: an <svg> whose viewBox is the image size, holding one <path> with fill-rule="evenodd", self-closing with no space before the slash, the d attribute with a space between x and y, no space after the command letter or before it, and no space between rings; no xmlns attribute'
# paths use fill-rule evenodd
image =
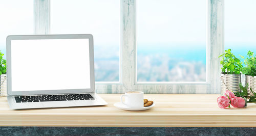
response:
<svg viewBox="0 0 256 136"><path fill-rule="evenodd" d="M231 49L225 50L225 53L220 55L219 58L220 57L222 57L222 72L226 74L240 74L243 67L242 63L231 53Z"/></svg>

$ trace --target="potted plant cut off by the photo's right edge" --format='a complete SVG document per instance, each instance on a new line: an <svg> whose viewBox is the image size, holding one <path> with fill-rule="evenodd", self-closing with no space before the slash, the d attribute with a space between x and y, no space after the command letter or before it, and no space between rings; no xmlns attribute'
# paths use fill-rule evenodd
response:
<svg viewBox="0 0 256 136"><path fill-rule="evenodd" d="M256 92L256 58L253 57L252 51L247 52L248 58L244 60L245 67L242 68L242 73L245 74L245 84L248 84L247 91L249 95L253 95L252 91ZM241 56L244 59L243 56ZM250 89L252 91L250 91Z"/></svg>

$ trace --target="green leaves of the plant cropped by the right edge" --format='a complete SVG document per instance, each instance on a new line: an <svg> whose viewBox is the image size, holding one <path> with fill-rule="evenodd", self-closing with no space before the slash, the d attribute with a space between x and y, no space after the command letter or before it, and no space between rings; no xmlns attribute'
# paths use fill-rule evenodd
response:
<svg viewBox="0 0 256 136"><path fill-rule="evenodd" d="M255 76L256 75L256 57L252 51L248 51L247 55L249 58L244 60L245 67L242 68L242 72L245 75ZM241 56L244 59L243 56Z"/></svg>

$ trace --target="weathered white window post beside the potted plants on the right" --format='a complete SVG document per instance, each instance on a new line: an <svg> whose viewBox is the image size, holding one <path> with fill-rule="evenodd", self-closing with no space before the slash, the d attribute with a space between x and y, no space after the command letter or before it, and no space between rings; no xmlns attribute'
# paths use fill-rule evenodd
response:
<svg viewBox="0 0 256 136"><path fill-rule="evenodd" d="M207 93L221 93L220 81L220 58L219 55L224 52L224 0L209 0L209 19L210 19L210 56L207 61L209 65L209 83L210 89Z"/></svg>

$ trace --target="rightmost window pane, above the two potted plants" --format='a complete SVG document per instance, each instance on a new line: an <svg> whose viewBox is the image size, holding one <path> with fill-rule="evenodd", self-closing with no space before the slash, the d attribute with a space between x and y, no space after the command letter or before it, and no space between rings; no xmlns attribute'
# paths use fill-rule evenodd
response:
<svg viewBox="0 0 256 136"><path fill-rule="evenodd" d="M239 59L247 57L248 50L256 53L255 7L255 0L225 0L225 49Z"/></svg>

